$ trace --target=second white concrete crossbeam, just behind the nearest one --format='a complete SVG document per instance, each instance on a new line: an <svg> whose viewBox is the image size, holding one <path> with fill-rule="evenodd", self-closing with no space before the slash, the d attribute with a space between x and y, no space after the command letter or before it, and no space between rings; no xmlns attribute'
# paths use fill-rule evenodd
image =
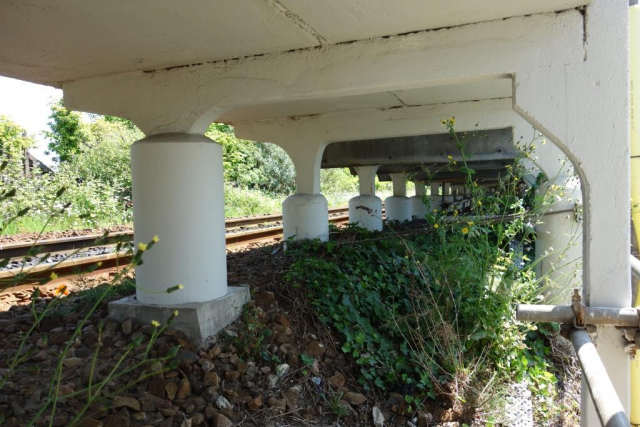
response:
<svg viewBox="0 0 640 427"><path fill-rule="evenodd" d="M263 142L290 141L291 145L311 144L301 150L315 151L317 139L325 144L340 141L375 140L420 135L448 135L442 120L456 117L456 130L475 132L512 128L512 141L529 143L536 130L512 108L511 99L423 105L394 109L369 109L290 118L234 123L236 136ZM484 131L483 131L484 132ZM310 136L317 138L310 140ZM307 143L307 141L309 141ZM331 145L329 145L330 147ZM532 165L553 177L567 174L561 162L565 156L554 144L537 144ZM446 158L446 156L445 156ZM393 163L400 162L394 160Z"/></svg>

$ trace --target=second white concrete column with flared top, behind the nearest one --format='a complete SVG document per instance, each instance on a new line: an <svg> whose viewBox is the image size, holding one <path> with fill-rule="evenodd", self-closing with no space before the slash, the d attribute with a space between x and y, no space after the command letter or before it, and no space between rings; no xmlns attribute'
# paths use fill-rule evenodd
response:
<svg viewBox="0 0 640 427"><path fill-rule="evenodd" d="M320 163L327 144L296 142L278 142L287 151L296 168L297 194L282 202L284 238L327 241L329 204L320 194Z"/></svg>

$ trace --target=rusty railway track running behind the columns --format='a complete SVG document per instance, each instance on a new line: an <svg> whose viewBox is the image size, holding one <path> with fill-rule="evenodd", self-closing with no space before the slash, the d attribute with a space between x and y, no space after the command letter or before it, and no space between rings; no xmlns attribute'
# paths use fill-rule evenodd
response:
<svg viewBox="0 0 640 427"><path fill-rule="evenodd" d="M329 222L340 225L349 221L348 208L329 209ZM262 215L249 218L230 218L225 221L227 230L226 243L228 248L238 248L247 246L252 243L273 240L282 236L282 225L278 225L282 221L282 215ZM274 225L269 225L274 224ZM255 226L252 229L243 229L244 227ZM102 238L102 235L86 235L64 237L60 239L50 239L38 241L37 246L40 248L39 253L64 253L72 252L92 247L113 246L118 242L130 242L133 240L133 231L115 232ZM99 241L99 244L96 244ZM33 246L33 242L19 242L0 246L0 260L22 259L29 255L29 251ZM52 272L58 276L81 274L94 268L96 271L114 268L118 265L126 265L130 261L130 257L124 252L116 253L115 251L108 254L100 254L94 256L82 256L73 259L66 259L58 263L47 263L25 267L22 271L20 268L0 270L0 281L7 281L16 275L24 275L21 279L22 283L36 283L51 275ZM99 264L98 268L95 268Z"/></svg>

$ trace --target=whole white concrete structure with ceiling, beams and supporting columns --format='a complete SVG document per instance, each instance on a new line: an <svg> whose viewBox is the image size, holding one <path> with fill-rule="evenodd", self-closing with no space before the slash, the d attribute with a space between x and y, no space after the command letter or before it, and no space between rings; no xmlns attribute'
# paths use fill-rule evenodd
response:
<svg viewBox="0 0 640 427"><path fill-rule="evenodd" d="M298 194L284 202L285 228L324 237L325 148L446 133L452 116L458 131L510 128L515 141L540 131L555 146L532 163L559 182L570 171L557 159L570 160L584 203L584 301L629 307L627 18L626 0L7 1L0 74L60 87L67 107L126 117L147 135L132 147L134 226L138 241L161 244L137 269L136 316L178 307L203 339L246 298L226 282L211 122L289 153ZM353 160L369 168L358 172L364 196L373 167L402 165ZM597 343L628 409L621 333L600 327ZM598 425L590 399L582 413Z"/></svg>

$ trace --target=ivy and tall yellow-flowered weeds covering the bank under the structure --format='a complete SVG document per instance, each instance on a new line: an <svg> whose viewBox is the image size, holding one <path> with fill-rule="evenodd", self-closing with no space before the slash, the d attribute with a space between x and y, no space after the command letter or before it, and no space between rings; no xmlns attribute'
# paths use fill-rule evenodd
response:
<svg viewBox="0 0 640 427"><path fill-rule="evenodd" d="M458 140L454 123L445 125L464 153L474 135ZM533 152L533 145L521 148L523 157ZM303 243L290 252L288 280L304 287L317 315L340 333L365 389L400 392L409 406L447 396L468 420L495 403L499 390L526 381L538 420L547 422L559 409L550 331L515 321L514 303L533 303L543 291L527 254L533 225L562 189L523 194L526 171L518 161L488 192L464 163L468 216L452 206L432 210L423 233L351 228L328 243Z"/></svg>

